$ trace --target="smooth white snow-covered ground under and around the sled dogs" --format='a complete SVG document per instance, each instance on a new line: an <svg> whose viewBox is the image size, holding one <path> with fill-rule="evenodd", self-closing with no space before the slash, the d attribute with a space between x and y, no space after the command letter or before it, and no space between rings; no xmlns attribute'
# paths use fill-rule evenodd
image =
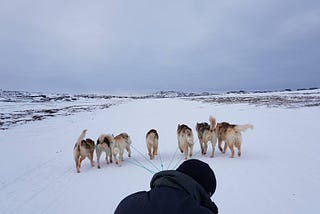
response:
<svg viewBox="0 0 320 214"><path fill-rule="evenodd" d="M183 161L177 152L177 124L251 123L243 133L242 156L229 158L216 149L210 158L194 157L215 171L212 199L220 213L317 213L320 204L320 108L224 104L180 98L132 99L109 108L56 116L0 130L0 213L113 213L127 195L149 190L153 172L174 169ZM101 169L83 161L76 173L73 147L83 129L96 140L102 133L127 132L133 154L121 167ZM160 135L160 154L150 162L145 134ZM196 133L194 132L196 136ZM195 137L196 139L196 137ZM104 156L103 156L104 157ZM96 158L96 157L95 157Z"/></svg>

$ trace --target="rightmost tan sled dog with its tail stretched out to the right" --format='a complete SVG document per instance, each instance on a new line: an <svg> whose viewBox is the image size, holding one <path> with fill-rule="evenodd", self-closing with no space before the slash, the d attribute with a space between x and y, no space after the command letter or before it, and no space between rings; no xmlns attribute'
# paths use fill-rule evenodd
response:
<svg viewBox="0 0 320 214"><path fill-rule="evenodd" d="M238 156L241 156L241 143L242 136L241 132L247 129L253 129L253 125L245 124L245 125L233 125L227 122L217 123L216 125L216 134L218 137L218 147L222 153L225 153L227 147L231 150L231 158L234 157L234 147L238 149ZM224 148L222 149L222 141L225 142Z"/></svg>

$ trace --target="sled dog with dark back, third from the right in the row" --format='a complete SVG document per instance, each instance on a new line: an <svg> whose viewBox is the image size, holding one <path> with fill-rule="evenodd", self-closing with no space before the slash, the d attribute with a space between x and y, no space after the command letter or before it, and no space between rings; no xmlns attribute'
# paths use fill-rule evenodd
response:
<svg viewBox="0 0 320 214"><path fill-rule="evenodd" d="M190 148L189 156L192 156L192 150L193 150L193 133L192 129L189 128L185 124L178 124L177 128L177 137L178 137L178 146L181 151L181 153L184 154L184 159L188 159L188 150Z"/></svg>

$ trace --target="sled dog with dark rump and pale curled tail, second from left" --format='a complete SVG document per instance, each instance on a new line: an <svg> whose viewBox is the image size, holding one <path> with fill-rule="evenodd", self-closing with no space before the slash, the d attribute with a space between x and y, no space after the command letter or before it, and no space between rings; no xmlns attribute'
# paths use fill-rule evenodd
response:
<svg viewBox="0 0 320 214"><path fill-rule="evenodd" d="M96 148L96 155L97 155L97 167L100 169L100 157L102 152L106 153L106 163L112 163L112 150L111 147L114 143L113 136L110 134L101 134L97 140L97 148Z"/></svg>

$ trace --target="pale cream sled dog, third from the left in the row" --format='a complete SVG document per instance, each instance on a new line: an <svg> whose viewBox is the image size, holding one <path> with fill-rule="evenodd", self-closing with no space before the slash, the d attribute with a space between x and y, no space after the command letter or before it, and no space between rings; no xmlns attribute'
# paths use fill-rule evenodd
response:
<svg viewBox="0 0 320 214"><path fill-rule="evenodd" d="M119 166L121 166L122 164L123 153L125 149L128 152L128 157L131 157L130 145L131 139L127 133L123 132L114 137L114 144L112 144L112 153L116 164L118 164ZM119 158L117 156L119 156Z"/></svg>

